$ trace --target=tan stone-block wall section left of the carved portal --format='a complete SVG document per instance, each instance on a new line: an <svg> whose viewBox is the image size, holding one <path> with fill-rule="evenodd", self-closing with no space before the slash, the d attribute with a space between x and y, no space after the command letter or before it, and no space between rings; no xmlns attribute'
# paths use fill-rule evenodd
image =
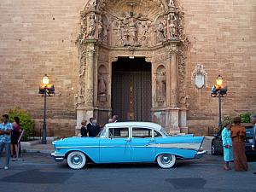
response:
<svg viewBox="0 0 256 192"><path fill-rule="evenodd" d="M38 96L38 86L47 73L56 92L47 98L48 135L74 132L73 97L78 74L75 40L80 27L79 11L83 7L81 0L1 1L2 113L19 106L31 112L34 119L42 119L44 98ZM37 122L40 129L42 120Z"/></svg>

